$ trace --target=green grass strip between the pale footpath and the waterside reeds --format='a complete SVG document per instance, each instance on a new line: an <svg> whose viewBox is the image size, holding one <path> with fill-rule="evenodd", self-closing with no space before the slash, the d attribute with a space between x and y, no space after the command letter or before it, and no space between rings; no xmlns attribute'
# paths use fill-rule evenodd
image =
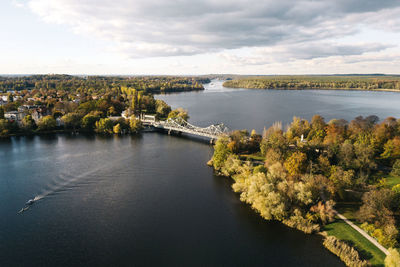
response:
<svg viewBox="0 0 400 267"><path fill-rule="evenodd" d="M324 230L328 235L333 235L355 247L361 257L367 259L373 266L384 266L385 254L344 221L337 220L330 223Z"/></svg>

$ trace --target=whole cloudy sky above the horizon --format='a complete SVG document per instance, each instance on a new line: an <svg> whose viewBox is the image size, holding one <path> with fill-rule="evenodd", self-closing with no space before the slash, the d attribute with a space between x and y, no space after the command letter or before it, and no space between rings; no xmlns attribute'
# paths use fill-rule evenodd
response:
<svg viewBox="0 0 400 267"><path fill-rule="evenodd" d="M400 74L399 0L1 0L1 74Z"/></svg>

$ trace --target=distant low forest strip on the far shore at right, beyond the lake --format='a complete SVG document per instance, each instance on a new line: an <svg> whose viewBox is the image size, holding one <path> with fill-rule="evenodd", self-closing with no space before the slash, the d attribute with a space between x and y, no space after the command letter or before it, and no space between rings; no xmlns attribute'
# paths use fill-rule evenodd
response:
<svg viewBox="0 0 400 267"><path fill-rule="evenodd" d="M270 76L224 82L225 87L249 89L400 90L397 76Z"/></svg>

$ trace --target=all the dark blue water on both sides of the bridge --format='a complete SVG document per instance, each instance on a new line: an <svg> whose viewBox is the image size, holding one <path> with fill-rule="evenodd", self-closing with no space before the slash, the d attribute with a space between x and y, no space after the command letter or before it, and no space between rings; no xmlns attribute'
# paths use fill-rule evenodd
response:
<svg viewBox="0 0 400 267"><path fill-rule="evenodd" d="M187 108L195 124L232 129L261 130L295 114L400 114L400 95L387 92L214 81L203 92L158 97ZM205 165L211 155L205 142L158 133L1 140L0 266L343 266L319 236L264 221L241 203L231 181Z"/></svg>

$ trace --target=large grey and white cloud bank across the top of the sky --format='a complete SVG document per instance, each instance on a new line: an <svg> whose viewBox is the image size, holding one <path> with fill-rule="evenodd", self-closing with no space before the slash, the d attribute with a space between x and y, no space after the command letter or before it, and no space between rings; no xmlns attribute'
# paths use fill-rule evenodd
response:
<svg viewBox="0 0 400 267"><path fill-rule="evenodd" d="M386 44L341 45L361 25L398 30L398 0L26 0L50 23L111 41L130 57L240 48L282 50L286 59L360 55ZM283 48L279 48L283 47ZM268 54L268 53L267 53ZM265 60L264 60L265 61Z"/></svg>

